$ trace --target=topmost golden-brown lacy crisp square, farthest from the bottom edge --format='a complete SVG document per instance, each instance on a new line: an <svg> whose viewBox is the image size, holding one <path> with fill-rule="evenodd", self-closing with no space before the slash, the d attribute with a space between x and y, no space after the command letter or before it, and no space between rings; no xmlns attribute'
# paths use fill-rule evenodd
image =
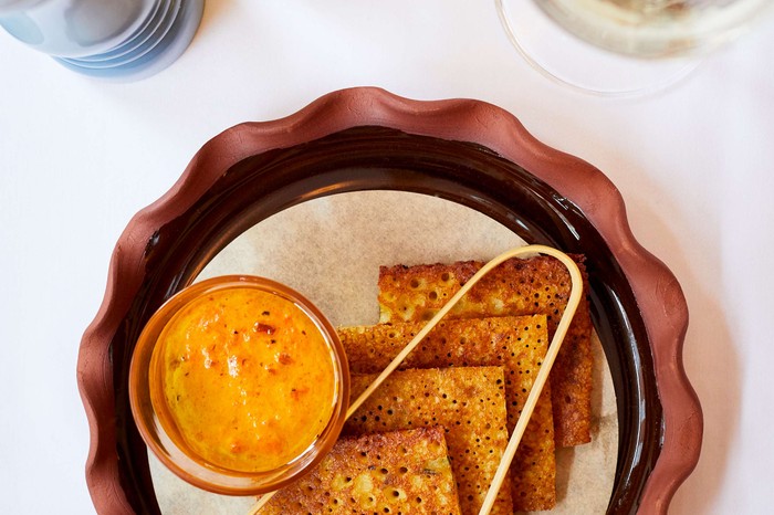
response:
<svg viewBox="0 0 774 515"><path fill-rule="evenodd" d="M586 283L585 258L572 258ZM381 266L380 322L428 320L481 266L483 263L475 261L450 265ZM569 273L558 260L543 255L513 259L482 277L447 316L542 314L547 318L548 336L553 337L571 290ZM554 433L559 446L578 445L592 439L590 337L592 320L584 296L551 374Z"/></svg>

